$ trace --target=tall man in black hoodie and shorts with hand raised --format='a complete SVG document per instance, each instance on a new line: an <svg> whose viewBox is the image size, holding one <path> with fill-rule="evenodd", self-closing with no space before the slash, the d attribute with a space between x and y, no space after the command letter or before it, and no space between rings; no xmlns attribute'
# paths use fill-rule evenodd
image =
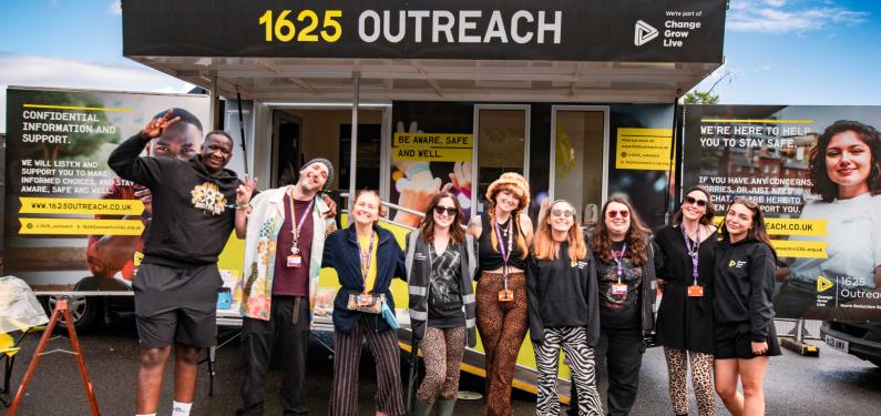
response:
<svg viewBox="0 0 881 416"><path fill-rule="evenodd" d="M188 161L140 158L152 139L180 120L170 116L171 112L150 121L107 161L120 177L146 186L153 194L153 220L133 282L142 347L137 415L155 415L172 344L173 415L189 414L199 351L216 341L215 307L223 284L217 256L235 216L245 214L256 185L256 180L248 182L247 177L248 183L243 184L235 172L225 169L233 156L233 139L223 131L209 132L201 153Z"/></svg>

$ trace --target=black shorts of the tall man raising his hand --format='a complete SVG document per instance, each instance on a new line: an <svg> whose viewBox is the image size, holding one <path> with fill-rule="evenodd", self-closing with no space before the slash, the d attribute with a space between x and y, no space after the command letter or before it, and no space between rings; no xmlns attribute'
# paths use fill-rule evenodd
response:
<svg viewBox="0 0 881 416"><path fill-rule="evenodd" d="M132 282L141 346L214 346L221 286L216 264L192 268L141 264Z"/></svg>

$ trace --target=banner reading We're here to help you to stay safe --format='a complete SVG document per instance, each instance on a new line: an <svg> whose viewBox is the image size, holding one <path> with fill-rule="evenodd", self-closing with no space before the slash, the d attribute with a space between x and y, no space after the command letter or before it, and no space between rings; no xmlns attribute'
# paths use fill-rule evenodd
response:
<svg viewBox="0 0 881 416"><path fill-rule="evenodd" d="M881 106L688 105L684 187L758 202L778 317L881 322Z"/></svg>

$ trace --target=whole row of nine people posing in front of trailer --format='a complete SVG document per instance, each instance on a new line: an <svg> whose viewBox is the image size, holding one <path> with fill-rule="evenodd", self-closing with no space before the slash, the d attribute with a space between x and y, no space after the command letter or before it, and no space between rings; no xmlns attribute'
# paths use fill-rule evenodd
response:
<svg viewBox="0 0 881 416"><path fill-rule="evenodd" d="M525 215L530 187L504 173L485 194L486 211L462 226L459 200L440 192L401 250L378 225L380 196L359 192L349 227L336 230L336 205L320 197L332 182L325 159L303 165L295 184L256 191L257 180L225 169L233 140L209 132L191 159L141 156L180 121L170 111L150 121L110 156L120 177L151 192L152 219L134 278L142 346L137 414L156 412L162 374L175 351L174 415L192 406L201 348L215 344L217 256L235 230L245 239L239 415L262 414L266 375L280 348L285 414L307 412L305 368L321 267L332 267L334 381L330 415L358 414L361 345L376 362L377 415L403 415L398 323L390 284L403 278L416 344L426 375L416 415L454 413L465 346L480 333L485 353L484 415L511 414L516 358L527 331L539 372L536 413L556 415L561 348L573 374L573 410L604 413L597 368L606 368L609 415L634 404L646 341L656 335L669 368L674 412L687 414L690 362L701 415L719 394L736 415L764 412L768 356L780 349L771 294L776 255L761 210L736 199L721 230L713 225L710 195L686 192L673 224L653 235L626 199L612 197L593 230L575 206L551 201L537 226ZM477 282L474 288L473 282ZM657 316L656 286L663 288ZM477 329L477 331L475 331ZM278 351L278 349L276 349ZM737 390L742 384L742 395Z"/></svg>

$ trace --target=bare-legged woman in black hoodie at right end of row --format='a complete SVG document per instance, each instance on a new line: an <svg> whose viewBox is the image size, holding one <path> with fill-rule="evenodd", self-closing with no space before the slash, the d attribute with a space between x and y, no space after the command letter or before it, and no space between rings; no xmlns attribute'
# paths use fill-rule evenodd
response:
<svg viewBox="0 0 881 416"><path fill-rule="evenodd" d="M721 236L714 300L716 393L734 415L764 415L768 356L780 355L771 303L777 254L761 209L749 199L735 199L728 207Z"/></svg>

